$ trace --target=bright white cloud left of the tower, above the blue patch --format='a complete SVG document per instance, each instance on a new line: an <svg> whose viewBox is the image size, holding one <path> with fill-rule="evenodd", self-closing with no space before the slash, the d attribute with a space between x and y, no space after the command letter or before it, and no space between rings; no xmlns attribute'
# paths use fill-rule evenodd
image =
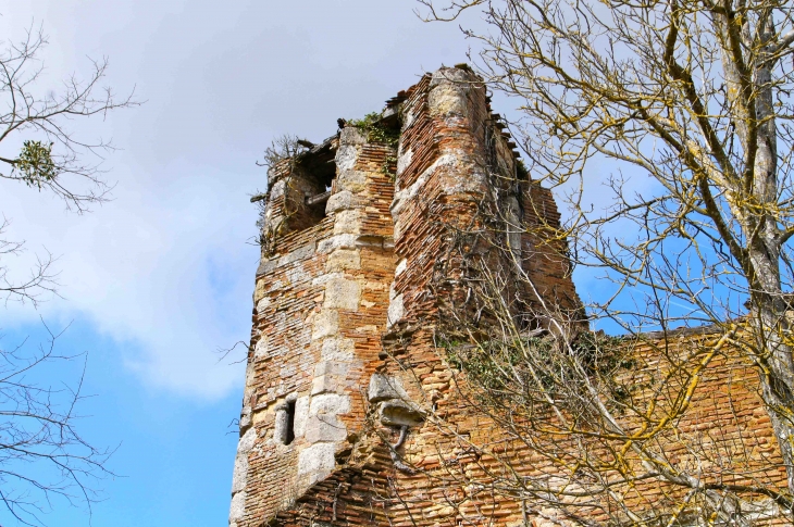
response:
<svg viewBox="0 0 794 527"><path fill-rule="evenodd" d="M196 174L160 191L122 181L115 201L84 216L14 189L4 205L14 219L9 238L27 239L29 254L44 243L60 255L66 299L39 311L88 316L98 330L139 344L142 354L129 364L156 385L222 394L239 381L239 368L216 365L214 350L245 339L250 319L258 251L246 244L256 218L243 189L251 179ZM29 309L7 315L37 316Z"/></svg>

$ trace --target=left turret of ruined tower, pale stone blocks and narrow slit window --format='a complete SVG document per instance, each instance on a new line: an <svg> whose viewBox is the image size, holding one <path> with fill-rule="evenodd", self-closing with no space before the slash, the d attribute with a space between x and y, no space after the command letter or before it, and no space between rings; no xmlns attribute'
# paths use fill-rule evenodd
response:
<svg viewBox="0 0 794 527"><path fill-rule="evenodd" d="M325 191L311 167L328 153L324 217L303 214L299 200ZM261 525L291 506L361 434L360 387L377 363L394 274L389 154L350 127L270 174L231 525Z"/></svg>

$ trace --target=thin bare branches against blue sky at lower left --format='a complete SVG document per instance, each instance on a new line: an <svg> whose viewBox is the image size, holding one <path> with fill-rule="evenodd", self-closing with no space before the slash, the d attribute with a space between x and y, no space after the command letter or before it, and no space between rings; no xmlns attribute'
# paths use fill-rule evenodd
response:
<svg viewBox="0 0 794 527"><path fill-rule="evenodd" d="M113 451L92 446L77 427L86 356L59 353L63 331L44 327L48 338L38 347L25 339L0 348L0 504L24 525L45 525L59 500L90 511L97 484L113 476ZM70 381L64 366L80 361L82 374ZM54 386L53 368L61 372Z"/></svg>

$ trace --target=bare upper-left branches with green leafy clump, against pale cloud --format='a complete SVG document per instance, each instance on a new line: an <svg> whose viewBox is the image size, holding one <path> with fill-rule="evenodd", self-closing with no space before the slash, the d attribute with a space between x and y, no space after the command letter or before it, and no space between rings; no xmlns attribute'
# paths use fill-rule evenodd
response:
<svg viewBox="0 0 794 527"><path fill-rule="evenodd" d="M69 210L83 213L108 200L112 188L101 167L102 154L114 150L112 142L89 140L71 126L75 120L103 117L108 112L139 104L133 93L116 97L102 86L108 60L91 61L85 79L72 75L60 91L39 96L44 73L40 54L47 46L42 29L28 29L20 42L7 42L0 53L0 180L21 183L34 190L61 198ZM18 147L21 143L21 148ZM8 147L7 147L8 146ZM3 170L2 166L5 166ZM0 225L7 229L8 218ZM0 254L9 258L24 250L24 242L0 240ZM12 277L8 264L0 264L0 293L5 301L28 301L34 305L58 288L53 256L47 254L28 276Z"/></svg>

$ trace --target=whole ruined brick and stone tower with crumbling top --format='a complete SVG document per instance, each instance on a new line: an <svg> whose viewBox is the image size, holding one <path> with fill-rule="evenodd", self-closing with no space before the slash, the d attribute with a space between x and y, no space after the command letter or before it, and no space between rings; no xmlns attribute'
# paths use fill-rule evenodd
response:
<svg viewBox="0 0 794 527"><path fill-rule="evenodd" d="M470 225L485 201L559 225L504 129L482 80L443 67L377 118L271 168L231 526L457 525L442 505L406 505L432 484L402 461L432 462L425 416L450 386L432 284L457 265L444 259L446 226ZM507 236L520 253L534 248L520 260L535 294L575 309L565 248Z"/></svg>

